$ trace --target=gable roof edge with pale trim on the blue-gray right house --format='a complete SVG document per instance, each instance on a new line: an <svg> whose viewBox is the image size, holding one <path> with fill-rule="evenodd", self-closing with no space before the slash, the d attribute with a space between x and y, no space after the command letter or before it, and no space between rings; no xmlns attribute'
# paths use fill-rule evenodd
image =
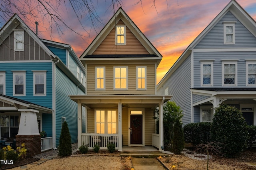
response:
<svg viewBox="0 0 256 170"><path fill-rule="evenodd" d="M165 76L160 80L157 85L157 89L164 84L166 80L172 75L172 73L190 56L191 50L207 35L207 33L220 21L227 12L231 12L247 29L256 37L256 21L236 2L231 0L229 4L212 20L212 22L192 41L192 43L186 48L178 60L168 70Z"/></svg>

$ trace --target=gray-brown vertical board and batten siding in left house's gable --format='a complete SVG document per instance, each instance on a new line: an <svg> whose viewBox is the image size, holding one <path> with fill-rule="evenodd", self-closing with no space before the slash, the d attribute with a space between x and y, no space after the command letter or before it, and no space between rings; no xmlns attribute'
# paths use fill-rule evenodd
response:
<svg viewBox="0 0 256 170"><path fill-rule="evenodd" d="M51 57L26 31L24 31L24 51L14 51L14 32L12 31L0 45L0 61L24 60L51 60Z"/></svg>

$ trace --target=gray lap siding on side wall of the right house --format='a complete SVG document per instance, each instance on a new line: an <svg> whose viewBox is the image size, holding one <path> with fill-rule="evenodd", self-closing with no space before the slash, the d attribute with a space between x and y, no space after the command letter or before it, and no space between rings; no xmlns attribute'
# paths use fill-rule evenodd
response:
<svg viewBox="0 0 256 170"><path fill-rule="evenodd" d="M182 125L191 123L191 56L189 56L158 89L157 94L164 95L168 87L169 95L173 95L170 101L174 101L182 110Z"/></svg>

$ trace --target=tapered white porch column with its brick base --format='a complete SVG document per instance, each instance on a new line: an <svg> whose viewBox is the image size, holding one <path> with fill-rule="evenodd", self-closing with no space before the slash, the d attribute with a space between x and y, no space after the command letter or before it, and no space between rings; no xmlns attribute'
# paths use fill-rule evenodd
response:
<svg viewBox="0 0 256 170"><path fill-rule="evenodd" d="M18 109L21 112L18 135L16 135L16 146L25 143L27 156L41 153L41 135L39 134L36 113L34 109Z"/></svg>

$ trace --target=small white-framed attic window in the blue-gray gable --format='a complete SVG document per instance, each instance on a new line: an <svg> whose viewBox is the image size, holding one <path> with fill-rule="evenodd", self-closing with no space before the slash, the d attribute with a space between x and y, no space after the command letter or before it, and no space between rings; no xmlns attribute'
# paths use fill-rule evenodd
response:
<svg viewBox="0 0 256 170"><path fill-rule="evenodd" d="M236 21L223 22L224 44L235 44L235 23Z"/></svg>

